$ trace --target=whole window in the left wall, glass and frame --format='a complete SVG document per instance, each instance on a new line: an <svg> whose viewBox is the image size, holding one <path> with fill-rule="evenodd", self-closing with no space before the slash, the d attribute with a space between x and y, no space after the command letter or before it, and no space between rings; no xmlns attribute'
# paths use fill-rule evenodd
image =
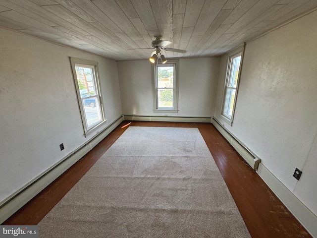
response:
<svg viewBox="0 0 317 238"><path fill-rule="evenodd" d="M98 62L70 58L85 135L105 121Z"/></svg>

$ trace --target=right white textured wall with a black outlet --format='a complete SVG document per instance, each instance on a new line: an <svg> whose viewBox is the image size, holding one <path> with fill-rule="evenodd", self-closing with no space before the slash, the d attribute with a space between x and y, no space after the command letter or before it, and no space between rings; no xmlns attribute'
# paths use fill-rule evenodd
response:
<svg viewBox="0 0 317 238"><path fill-rule="evenodd" d="M317 215L317 12L246 45L233 125L221 120L227 57L220 60L215 118ZM298 181L295 168L303 171Z"/></svg>

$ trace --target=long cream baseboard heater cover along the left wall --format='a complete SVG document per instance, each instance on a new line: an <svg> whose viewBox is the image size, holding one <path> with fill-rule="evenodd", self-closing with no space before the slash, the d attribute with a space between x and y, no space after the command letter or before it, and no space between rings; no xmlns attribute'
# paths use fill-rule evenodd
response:
<svg viewBox="0 0 317 238"><path fill-rule="evenodd" d="M47 187L51 182L62 175L66 170L68 170L73 164L80 160L84 155L86 155L90 150L92 150L102 139L104 139L114 128L116 128L124 120L123 116L120 116L114 122L112 122L108 127L106 127L100 134L96 135L85 145L77 149L74 153L71 153L66 158L63 158L60 163L53 166L39 178L35 179L33 182L28 184L10 200L4 203L0 207L0 224L6 219L12 216L17 210L23 207L28 201L35 197L39 192L41 192L45 187Z"/></svg>

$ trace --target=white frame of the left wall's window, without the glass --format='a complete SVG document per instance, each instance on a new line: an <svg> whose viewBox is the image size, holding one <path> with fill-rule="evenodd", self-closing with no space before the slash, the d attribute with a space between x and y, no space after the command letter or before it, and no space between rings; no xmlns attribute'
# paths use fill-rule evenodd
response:
<svg viewBox="0 0 317 238"><path fill-rule="evenodd" d="M75 83L75 87L76 87L76 94L77 94L82 124L83 124L83 128L84 128L84 135L86 137L88 134L90 134L92 131L94 131L97 127L99 127L101 124L103 124L106 121L106 117L104 114L104 107L103 107L103 105L104 105L103 104L103 97L102 97L102 92L100 89L101 84L100 84L100 77L99 77L100 74L99 74L98 62L93 61L93 60L84 60L84 59L74 58L74 57L69 57L69 59L70 59L74 83ZM96 124L93 124L90 127L88 126L88 122L86 119L84 102L83 102L83 98L81 97L81 94L80 94L75 66L87 66L89 68L92 68L93 72L94 72L94 75L92 76L92 78L94 80L95 94L96 95L91 96L91 97L97 97L97 99L99 100L99 103L96 103L96 106L97 107L99 106L101 120L99 122L97 122ZM87 97L87 98L89 98L89 97ZM87 99L87 98L85 98L85 99Z"/></svg>

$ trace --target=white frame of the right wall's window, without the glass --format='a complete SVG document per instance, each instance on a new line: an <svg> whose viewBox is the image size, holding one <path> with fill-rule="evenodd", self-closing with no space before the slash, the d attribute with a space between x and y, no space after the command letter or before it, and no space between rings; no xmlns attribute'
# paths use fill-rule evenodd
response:
<svg viewBox="0 0 317 238"><path fill-rule="evenodd" d="M234 112L235 112L235 107L236 107L236 102L237 102L237 96L238 96L238 88L239 88L239 82L240 82L240 76L241 76L241 69L242 69L242 62L243 62L243 52L244 52L244 46L239 47L238 49L231 51L227 54L228 60L227 60L227 67L226 67L226 76L225 76L225 81L224 81L224 87L223 87L223 97L222 97L222 102L221 102L221 118L228 122L231 126L233 123L233 118L234 118ZM230 83L231 79L231 74L232 74L232 64L233 64L233 59L236 57L241 56L240 60L240 66L239 66L239 74L238 74L238 79L237 79L237 86L230 87L228 84ZM225 106L227 104L227 94L230 89L235 89L235 97L233 101L233 109L232 109L232 114L231 117L230 115L225 113ZM230 100L231 102L231 100Z"/></svg>

